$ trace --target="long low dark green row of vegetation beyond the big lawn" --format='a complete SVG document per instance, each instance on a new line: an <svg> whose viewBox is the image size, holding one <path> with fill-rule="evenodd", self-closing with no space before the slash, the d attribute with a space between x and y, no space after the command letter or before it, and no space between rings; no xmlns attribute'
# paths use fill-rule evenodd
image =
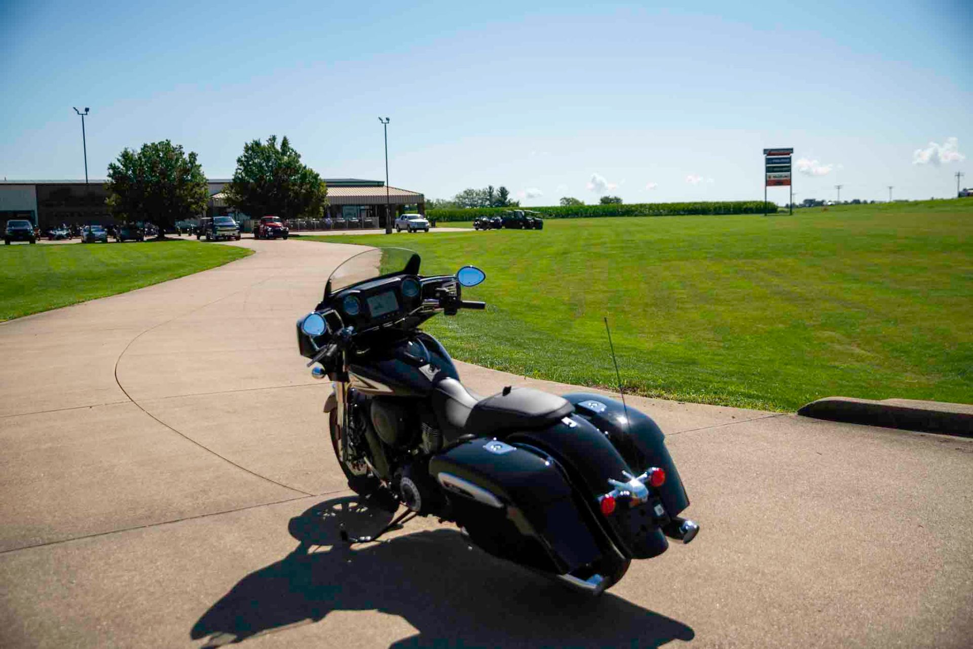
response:
<svg viewBox="0 0 973 649"><path fill-rule="evenodd" d="M478 216L495 216L510 209L529 209L549 219L587 219L599 216L672 216L676 214L762 214L763 200L723 200L700 202L641 202L610 205L553 205L551 207L467 207L428 209L426 216L439 223L472 221ZM767 203L771 212L776 203Z"/></svg>

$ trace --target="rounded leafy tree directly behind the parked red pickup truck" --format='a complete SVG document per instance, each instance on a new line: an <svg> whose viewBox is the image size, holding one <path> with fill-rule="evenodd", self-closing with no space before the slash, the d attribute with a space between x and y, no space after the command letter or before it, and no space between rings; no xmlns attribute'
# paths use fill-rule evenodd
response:
<svg viewBox="0 0 973 649"><path fill-rule="evenodd" d="M320 218L328 204L328 188L321 176L305 163L285 135L267 143L254 140L243 145L236 159L234 179L223 188L227 204L259 218L269 214L282 219L303 216Z"/></svg>

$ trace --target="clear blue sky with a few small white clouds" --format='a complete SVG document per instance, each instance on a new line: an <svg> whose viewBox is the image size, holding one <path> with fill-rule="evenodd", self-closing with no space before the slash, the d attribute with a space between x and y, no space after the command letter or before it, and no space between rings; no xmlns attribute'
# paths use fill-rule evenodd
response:
<svg viewBox="0 0 973 649"><path fill-rule="evenodd" d="M229 177L272 133L382 178L380 115L390 184L429 198L762 198L775 146L798 200L953 196L973 3L788 5L0 0L0 177L83 178L89 106L92 178L160 139Z"/></svg>

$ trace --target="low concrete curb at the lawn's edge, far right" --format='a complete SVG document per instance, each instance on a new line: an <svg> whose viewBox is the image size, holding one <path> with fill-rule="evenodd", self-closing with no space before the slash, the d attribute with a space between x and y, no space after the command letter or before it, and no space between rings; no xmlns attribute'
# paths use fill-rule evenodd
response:
<svg viewBox="0 0 973 649"><path fill-rule="evenodd" d="M912 399L825 397L797 412L815 419L973 437L973 406Z"/></svg>

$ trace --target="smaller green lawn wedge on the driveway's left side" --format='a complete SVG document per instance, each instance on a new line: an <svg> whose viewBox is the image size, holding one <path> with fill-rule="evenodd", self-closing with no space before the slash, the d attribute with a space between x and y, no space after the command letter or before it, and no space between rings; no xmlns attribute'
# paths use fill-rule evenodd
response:
<svg viewBox="0 0 973 649"><path fill-rule="evenodd" d="M0 246L0 320L125 293L250 254L181 240Z"/></svg>

